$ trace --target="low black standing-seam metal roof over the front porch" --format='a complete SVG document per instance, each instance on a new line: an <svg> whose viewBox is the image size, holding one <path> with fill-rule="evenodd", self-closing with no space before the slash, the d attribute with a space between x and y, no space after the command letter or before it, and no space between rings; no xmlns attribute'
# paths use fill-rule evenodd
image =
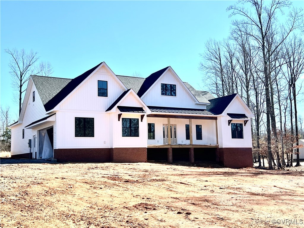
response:
<svg viewBox="0 0 304 228"><path fill-rule="evenodd" d="M147 106L151 112L166 112L166 113L183 113L183 114L200 114L200 115L214 115L206 109L188 109L188 108L173 108L173 107L158 107Z"/></svg>

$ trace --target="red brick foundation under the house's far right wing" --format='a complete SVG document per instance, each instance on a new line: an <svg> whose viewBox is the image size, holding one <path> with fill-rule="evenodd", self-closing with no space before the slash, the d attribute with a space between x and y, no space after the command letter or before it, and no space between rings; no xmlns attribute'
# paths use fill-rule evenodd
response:
<svg viewBox="0 0 304 228"><path fill-rule="evenodd" d="M252 148L217 148L216 161L228 168L253 168Z"/></svg>

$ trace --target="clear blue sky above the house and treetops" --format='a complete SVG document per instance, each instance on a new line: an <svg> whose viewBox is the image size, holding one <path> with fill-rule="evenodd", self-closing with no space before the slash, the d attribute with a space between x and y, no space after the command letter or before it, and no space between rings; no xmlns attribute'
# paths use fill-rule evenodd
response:
<svg viewBox="0 0 304 228"><path fill-rule="evenodd" d="M115 74L143 77L170 65L202 89L199 53L209 38L228 36L226 8L234 3L1 1L1 105L17 119L5 48L33 49L55 77L74 78L102 61Z"/></svg>

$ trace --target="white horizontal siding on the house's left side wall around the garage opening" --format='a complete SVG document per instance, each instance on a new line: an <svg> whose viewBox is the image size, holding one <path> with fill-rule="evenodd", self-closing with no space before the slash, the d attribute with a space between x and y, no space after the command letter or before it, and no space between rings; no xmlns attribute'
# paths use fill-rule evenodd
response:
<svg viewBox="0 0 304 228"><path fill-rule="evenodd" d="M29 91L29 93L28 93ZM33 92L35 91L35 101L33 102ZM28 141L33 140L33 136L37 135L37 129L25 129L25 126L33 123L38 119L42 119L46 116L45 109L42 104L41 98L37 92L32 79L29 79L29 85L27 88L27 94L24 98L25 112L22 119L22 123L12 127L12 139L11 139L11 154L23 154L29 153ZM22 139L22 129L24 130L24 139ZM43 129L43 127L39 127ZM55 132L55 126L54 126ZM54 133L54 148L56 148L56 134Z"/></svg>

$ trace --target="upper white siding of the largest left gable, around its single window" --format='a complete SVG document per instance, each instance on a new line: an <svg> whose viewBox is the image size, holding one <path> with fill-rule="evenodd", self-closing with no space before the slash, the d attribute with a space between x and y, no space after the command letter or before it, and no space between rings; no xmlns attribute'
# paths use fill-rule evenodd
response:
<svg viewBox="0 0 304 228"><path fill-rule="evenodd" d="M108 82L108 97L98 97L98 80ZM115 76L102 66L68 96L60 105L60 110L104 112L125 91L117 80Z"/></svg>

